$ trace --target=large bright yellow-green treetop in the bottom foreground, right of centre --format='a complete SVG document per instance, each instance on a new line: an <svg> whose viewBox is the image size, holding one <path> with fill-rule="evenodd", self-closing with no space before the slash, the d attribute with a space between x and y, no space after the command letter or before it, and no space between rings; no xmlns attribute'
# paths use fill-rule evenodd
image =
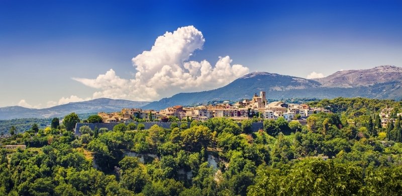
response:
<svg viewBox="0 0 402 196"><path fill-rule="evenodd" d="M285 171L264 168L258 173L248 195L358 195L363 185L361 168L332 160L305 159Z"/></svg>

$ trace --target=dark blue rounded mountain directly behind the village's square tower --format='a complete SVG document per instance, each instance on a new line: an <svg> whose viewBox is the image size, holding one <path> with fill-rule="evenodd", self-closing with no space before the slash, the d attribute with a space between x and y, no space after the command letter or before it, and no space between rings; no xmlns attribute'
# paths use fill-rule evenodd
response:
<svg viewBox="0 0 402 196"><path fill-rule="evenodd" d="M246 74L226 86L214 90L202 92L178 93L169 98L164 98L157 102L152 102L144 106L144 109L161 110L174 105L201 104L209 101L220 100L240 100L250 99L254 93L259 91L277 91L278 95L271 97L284 97L283 92L297 89L308 89L320 86L320 82L280 75L267 72L252 72Z"/></svg>

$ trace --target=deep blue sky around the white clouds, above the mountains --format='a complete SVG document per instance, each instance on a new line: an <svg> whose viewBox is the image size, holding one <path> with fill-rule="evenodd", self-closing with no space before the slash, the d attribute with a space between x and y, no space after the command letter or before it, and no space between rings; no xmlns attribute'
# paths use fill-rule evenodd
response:
<svg viewBox="0 0 402 196"><path fill-rule="evenodd" d="M189 25L205 39L189 60L213 66L230 56L249 71L299 77L402 66L401 10L401 1L2 0L0 107L92 98L99 89L71 78L113 69L132 79L133 57L158 36ZM162 95L169 94L151 100Z"/></svg>

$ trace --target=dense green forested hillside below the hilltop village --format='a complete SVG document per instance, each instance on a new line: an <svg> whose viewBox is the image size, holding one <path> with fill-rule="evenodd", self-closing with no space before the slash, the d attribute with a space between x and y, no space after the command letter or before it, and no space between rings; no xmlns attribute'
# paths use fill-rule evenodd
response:
<svg viewBox="0 0 402 196"><path fill-rule="evenodd" d="M81 127L81 136L40 129L2 139L1 195L401 195L402 120L378 113L400 102L311 102L333 114L265 120L251 132L213 118L171 129L119 124ZM258 120L258 119L254 119Z"/></svg>

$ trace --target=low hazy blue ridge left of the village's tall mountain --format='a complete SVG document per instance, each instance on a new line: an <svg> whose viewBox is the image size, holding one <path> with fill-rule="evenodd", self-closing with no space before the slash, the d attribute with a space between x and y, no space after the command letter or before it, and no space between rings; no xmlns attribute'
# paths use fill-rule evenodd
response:
<svg viewBox="0 0 402 196"><path fill-rule="evenodd" d="M74 102L45 109L29 109L20 106L0 108L0 120L20 118L51 118L63 117L69 113L97 113L116 112L122 108L141 108L149 102L135 102L127 100L113 100L100 98L85 102Z"/></svg>

